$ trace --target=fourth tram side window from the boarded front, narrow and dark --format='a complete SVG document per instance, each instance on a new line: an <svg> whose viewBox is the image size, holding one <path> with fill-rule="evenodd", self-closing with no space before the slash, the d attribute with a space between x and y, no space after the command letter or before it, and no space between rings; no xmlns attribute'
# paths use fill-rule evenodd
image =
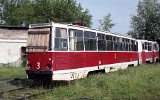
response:
<svg viewBox="0 0 160 100"><path fill-rule="evenodd" d="M105 35L98 33L98 50L99 51L105 51L106 50L106 40L105 40Z"/></svg>

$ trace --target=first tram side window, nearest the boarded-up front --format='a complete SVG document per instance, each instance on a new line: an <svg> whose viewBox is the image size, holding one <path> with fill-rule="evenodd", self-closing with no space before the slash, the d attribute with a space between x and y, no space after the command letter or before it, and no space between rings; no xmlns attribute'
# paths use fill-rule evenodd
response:
<svg viewBox="0 0 160 100"><path fill-rule="evenodd" d="M55 30L55 50L56 51L67 51L67 29L56 27Z"/></svg>

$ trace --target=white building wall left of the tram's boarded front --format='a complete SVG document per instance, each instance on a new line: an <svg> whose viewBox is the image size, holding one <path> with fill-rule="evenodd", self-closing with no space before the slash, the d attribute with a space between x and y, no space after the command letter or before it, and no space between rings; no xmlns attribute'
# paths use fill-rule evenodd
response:
<svg viewBox="0 0 160 100"><path fill-rule="evenodd" d="M0 39L0 64L17 63L21 60L21 47L27 40Z"/></svg>

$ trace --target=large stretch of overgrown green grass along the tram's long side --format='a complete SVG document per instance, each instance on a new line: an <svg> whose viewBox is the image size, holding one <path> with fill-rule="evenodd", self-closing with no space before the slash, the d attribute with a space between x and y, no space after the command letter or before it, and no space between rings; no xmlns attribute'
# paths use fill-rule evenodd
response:
<svg viewBox="0 0 160 100"><path fill-rule="evenodd" d="M160 64L141 65L108 74L92 75L60 86L43 100L159 100Z"/></svg>

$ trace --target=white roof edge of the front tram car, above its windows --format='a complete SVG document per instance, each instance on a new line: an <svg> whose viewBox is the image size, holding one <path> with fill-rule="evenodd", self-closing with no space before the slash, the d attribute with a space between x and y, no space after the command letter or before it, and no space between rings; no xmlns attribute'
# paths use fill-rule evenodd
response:
<svg viewBox="0 0 160 100"><path fill-rule="evenodd" d="M120 34L116 34L116 33L112 33L112 32L107 32L107 31L102 31L99 29L93 29L93 28L89 28L89 27L84 27L84 26L78 26L78 25L72 25L72 24L60 24L60 23L54 23L54 22L50 22L50 23L38 23L38 24L31 24L29 25L29 28L42 28L42 27L63 27L63 28L73 28L73 29L78 29L78 30L86 30L86 31L92 31L92 32L96 32L96 33L102 33L105 35L111 35L111 36L116 36L116 37L120 37L120 38L125 38L125 39L130 39L130 40L136 40L134 38L131 38L129 36L124 36L124 35L120 35Z"/></svg>

